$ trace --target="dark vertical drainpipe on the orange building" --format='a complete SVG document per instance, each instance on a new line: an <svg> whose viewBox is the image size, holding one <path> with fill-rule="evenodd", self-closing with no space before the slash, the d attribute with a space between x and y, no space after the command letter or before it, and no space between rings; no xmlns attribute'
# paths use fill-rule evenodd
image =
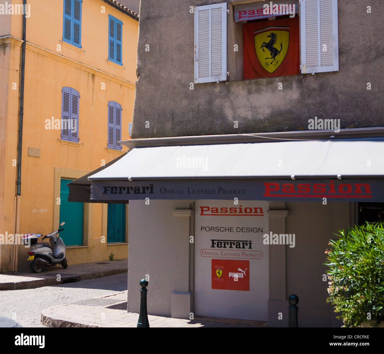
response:
<svg viewBox="0 0 384 354"><path fill-rule="evenodd" d="M23 1L24 11L26 9L26 0ZM19 233L20 228L20 197L22 187L22 142L23 142L23 116L24 116L24 79L25 79L25 33L26 33L26 14L23 15L23 44L21 48L20 59L20 94L19 94L19 136L17 144L17 192L16 192L16 207L15 207L15 232L14 238L16 241L16 233ZM12 249L11 249L12 251ZM18 248L16 242L13 243L12 271L17 271L18 265Z"/></svg>

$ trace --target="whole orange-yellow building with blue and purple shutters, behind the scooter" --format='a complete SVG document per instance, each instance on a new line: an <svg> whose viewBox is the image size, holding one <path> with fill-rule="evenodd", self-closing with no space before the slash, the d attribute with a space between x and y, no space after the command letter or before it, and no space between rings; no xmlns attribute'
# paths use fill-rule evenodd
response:
<svg viewBox="0 0 384 354"><path fill-rule="evenodd" d="M66 184L126 149L138 27L113 0L0 0L0 272L28 269L13 235L62 221L68 264L127 257L125 205L68 203Z"/></svg>

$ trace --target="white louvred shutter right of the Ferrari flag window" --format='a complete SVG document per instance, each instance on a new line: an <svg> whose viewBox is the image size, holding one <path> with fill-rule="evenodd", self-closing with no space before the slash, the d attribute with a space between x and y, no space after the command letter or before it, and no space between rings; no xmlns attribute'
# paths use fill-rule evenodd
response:
<svg viewBox="0 0 384 354"><path fill-rule="evenodd" d="M337 0L300 0L301 73L339 70Z"/></svg>

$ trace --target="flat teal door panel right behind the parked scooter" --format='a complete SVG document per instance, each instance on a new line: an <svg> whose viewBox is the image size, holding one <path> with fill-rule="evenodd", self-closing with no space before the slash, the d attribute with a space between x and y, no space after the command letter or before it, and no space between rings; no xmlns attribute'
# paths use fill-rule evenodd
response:
<svg viewBox="0 0 384 354"><path fill-rule="evenodd" d="M60 237L66 246L78 246L83 244L83 203L68 202L70 179L60 181L60 223L65 221L64 231ZM55 225L56 226L56 225Z"/></svg>

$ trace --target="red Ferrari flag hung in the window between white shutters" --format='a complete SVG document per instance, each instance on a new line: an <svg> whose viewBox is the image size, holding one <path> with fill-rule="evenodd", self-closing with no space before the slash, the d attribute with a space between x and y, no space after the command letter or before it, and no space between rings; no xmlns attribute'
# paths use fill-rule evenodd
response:
<svg viewBox="0 0 384 354"><path fill-rule="evenodd" d="M244 79L300 74L299 18L243 25Z"/></svg>

